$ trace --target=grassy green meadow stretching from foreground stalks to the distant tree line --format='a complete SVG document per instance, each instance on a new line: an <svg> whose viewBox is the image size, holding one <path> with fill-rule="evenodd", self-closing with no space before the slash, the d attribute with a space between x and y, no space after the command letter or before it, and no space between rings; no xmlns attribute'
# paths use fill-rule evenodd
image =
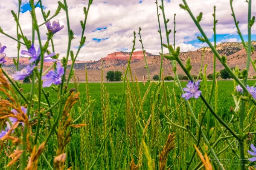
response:
<svg viewBox="0 0 256 170"><path fill-rule="evenodd" d="M174 82L165 82L165 90L160 88L159 96L167 95L167 99L169 102L172 102L172 106L169 107L168 117L172 119L172 122L177 125L182 125L191 131L192 134L196 134L195 123L191 120L189 113L186 111L186 106L183 102L183 99L180 100L180 91L177 85L174 85L174 92L171 93L171 89L173 87ZM255 80L249 80L248 85L253 85ZM185 87L187 82L181 82L182 87ZM127 85L127 84L126 84ZM141 98L144 97L150 83L147 82L146 85L143 85L142 82L138 82L138 86L136 82L131 82L129 84L131 94L134 94ZM212 85L212 81L207 81L208 87ZM151 155L151 161L155 166L158 164L159 154L163 150L163 146L166 143L166 139L169 133L175 134L175 144L176 147L172 150L167 159L167 168L171 168L173 170L181 170L186 169L186 162L189 161L192 157L192 153L194 150L193 144L196 144L195 139L193 139L189 133L184 133L183 129L176 128L175 126L169 125L166 122L165 117L160 111L157 111L154 108L154 103L149 106L151 111L151 121L148 121L148 104L149 104L149 93L145 97L145 102L143 103L143 111L138 111L137 106L132 107L131 101L133 99L125 99L125 104L122 105L119 115L116 115L116 111L118 109L120 100L122 99L122 86L123 83L71 83L69 88L77 88L80 93L80 102L77 102L72 112L70 113L73 120L76 119L81 112L87 108L87 93L89 90L89 94L91 99L95 99L93 107L91 107L84 115L82 115L82 119L77 123L86 123L87 126L79 129L71 129L71 141L67 144L66 153L66 167L71 167L74 170L88 170L96 159L96 154L101 147L101 143L104 140L104 137L108 131L111 129L111 122L114 117L116 117L116 124L113 127L113 130L110 130L109 139L105 142L104 148L102 149L102 153L99 156L99 160L96 165L93 167L93 170L125 170L131 168L132 159L134 159L134 164L140 164L140 169L148 169L148 165L146 164L148 160L147 152L145 148L148 148L148 153ZM129 87L128 86L128 87ZM103 87L103 88L102 88ZM125 86L126 87L126 86ZM136 89L140 88L140 94L137 94ZM31 84L23 84L22 85L23 92L26 94L30 91ZM105 89L102 91L102 89ZM154 98L154 89L155 84L151 85L151 100ZM217 88L216 88L217 89ZM52 88L45 88L46 92L49 92L50 103L54 102L53 100L58 99L58 93L54 91ZM129 96L128 92L130 90L126 90L126 96ZM168 92L169 91L169 92ZM232 113L230 112L230 108L235 108L235 104L231 94L234 92L234 82L230 81L218 81L218 94L214 94L212 99L212 105L217 106L215 111L217 111L218 115L223 118L225 122L228 122L231 119ZM128 93L128 94L127 94ZM102 96L104 94L104 96ZM130 95L131 95L130 94ZM170 95L168 95L170 94ZM171 96L171 94L175 96ZM216 96L218 95L218 96ZM106 99L105 99L106 98ZM42 102L46 103L44 96ZM102 105L102 102L105 104ZM169 103L168 102L168 103ZM202 111L204 108L203 102L201 99L190 100L195 116L198 120L201 119ZM215 105L215 102L218 104ZM140 103L140 102L138 102ZM35 102L35 105L37 103ZM161 105L161 104L160 104ZM44 105L43 105L44 107ZM105 107L105 108L104 108ZM247 106L249 108L249 106ZM36 108L36 107L35 107ZM133 111L132 111L133 110ZM139 109L140 110L140 109ZM255 109L253 109L254 111ZM55 110L53 110L55 117ZM255 111L254 111L255 112ZM136 113L144 113L144 115L137 115ZM139 121L137 121L139 120ZM206 125L206 119L204 119L204 125ZM215 124L215 118L210 115L210 125L211 125L211 139L209 140L210 144L214 146L214 142L217 139L218 128ZM41 136L47 136L49 128L43 128L40 132ZM221 127L223 128L223 127ZM255 127L254 127L255 128ZM252 129L252 131L254 131ZM35 129L32 129L32 132L35 132ZM203 126L203 132L205 132L205 127ZM228 133L227 133L228 135ZM142 151L142 145L145 140L145 144L147 147L144 147L144 151ZM41 137L40 141L44 141L45 139ZM254 139L255 140L255 139ZM230 141L233 141L231 138ZM255 142L255 141L254 141ZM53 136L47 147L44 149L44 155L49 161L50 164L53 164L54 155L56 155L56 136ZM201 140L201 146L203 150L206 150L204 146L203 140ZM232 142L235 150L237 150L237 145L235 141ZM230 148L224 150L221 153L221 150L224 149L227 145L226 141L219 141L217 147L215 147L215 152L218 154L220 152L218 159L226 159L226 161L222 161L222 164L225 168L233 170L239 169L239 163L236 160ZM248 149L249 144L245 145L245 149ZM145 153L145 155L144 155ZM209 158L212 158L209 156ZM4 160L4 157L2 158ZM143 160L143 161L142 161ZM193 159L189 169L193 169L197 167L198 162L200 162L199 157L196 155ZM212 165L217 169L216 164L214 163L214 159L212 158ZM6 161L0 161L0 165L6 164ZM129 165L130 164L130 165ZM201 165L201 164L199 164ZM129 168L130 167L130 168ZM47 170L47 164L41 157L38 160L38 168L39 170ZM198 168L198 167L197 167ZM157 169L157 168L156 168ZM195 168L196 169L196 168Z"/></svg>

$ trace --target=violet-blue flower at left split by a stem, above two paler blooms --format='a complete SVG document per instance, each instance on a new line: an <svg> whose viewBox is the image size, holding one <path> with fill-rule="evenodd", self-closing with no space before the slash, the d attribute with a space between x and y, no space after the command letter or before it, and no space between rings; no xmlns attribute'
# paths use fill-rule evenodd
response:
<svg viewBox="0 0 256 170"><path fill-rule="evenodd" d="M36 51L34 44L31 45L31 48L29 49L29 51L24 51L24 50L21 51L21 54L28 55L29 57L31 57L29 59L30 63L40 61L40 59L41 59L40 53L41 53L40 47L38 47L38 51ZM55 53L51 53L51 54L45 56L44 61L45 62L55 62L55 61L57 61L57 59L50 58L50 57L53 57L53 56L55 56ZM50 59L46 59L46 58L50 58Z"/></svg>

